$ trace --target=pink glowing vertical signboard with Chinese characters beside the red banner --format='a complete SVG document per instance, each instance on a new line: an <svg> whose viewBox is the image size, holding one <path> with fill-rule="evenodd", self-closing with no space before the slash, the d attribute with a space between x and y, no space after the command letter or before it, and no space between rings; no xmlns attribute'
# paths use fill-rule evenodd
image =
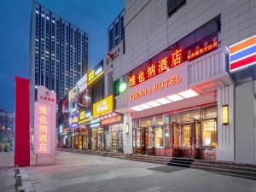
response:
<svg viewBox="0 0 256 192"><path fill-rule="evenodd" d="M38 86L34 129L37 165L55 164L56 94L44 86Z"/></svg>

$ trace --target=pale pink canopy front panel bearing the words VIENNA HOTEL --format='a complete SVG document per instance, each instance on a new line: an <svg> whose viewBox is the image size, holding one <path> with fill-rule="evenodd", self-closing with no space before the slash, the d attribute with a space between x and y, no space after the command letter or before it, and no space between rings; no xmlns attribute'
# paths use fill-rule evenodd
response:
<svg viewBox="0 0 256 192"><path fill-rule="evenodd" d="M188 61L128 90L128 107L188 90Z"/></svg>

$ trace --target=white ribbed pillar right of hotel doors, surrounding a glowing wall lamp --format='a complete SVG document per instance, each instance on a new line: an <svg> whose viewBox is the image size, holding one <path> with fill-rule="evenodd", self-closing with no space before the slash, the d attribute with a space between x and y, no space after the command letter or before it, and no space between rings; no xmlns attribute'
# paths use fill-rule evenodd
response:
<svg viewBox="0 0 256 192"><path fill-rule="evenodd" d="M229 125L223 125L222 106L229 106ZM234 161L234 85L218 89L217 160Z"/></svg>

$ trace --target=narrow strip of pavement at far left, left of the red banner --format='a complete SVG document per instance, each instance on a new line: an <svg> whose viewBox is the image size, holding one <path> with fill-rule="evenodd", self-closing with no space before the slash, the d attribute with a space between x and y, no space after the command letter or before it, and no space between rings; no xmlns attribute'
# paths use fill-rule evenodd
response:
<svg viewBox="0 0 256 192"><path fill-rule="evenodd" d="M14 192L15 171L14 154L12 152L0 152L0 191Z"/></svg>

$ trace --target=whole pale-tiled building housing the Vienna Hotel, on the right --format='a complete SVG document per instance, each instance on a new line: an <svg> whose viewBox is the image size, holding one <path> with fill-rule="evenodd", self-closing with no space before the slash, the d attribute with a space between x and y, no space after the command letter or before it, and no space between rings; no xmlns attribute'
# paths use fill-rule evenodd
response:
<svg viewBox="0 0 256 192"><path fill-rule="evenodd" d="M124 55L108 63L125 153L256 163L255 61L231 70L244 53L228 49L255 35L255 9L238 0L125 1Z"/></svg>

